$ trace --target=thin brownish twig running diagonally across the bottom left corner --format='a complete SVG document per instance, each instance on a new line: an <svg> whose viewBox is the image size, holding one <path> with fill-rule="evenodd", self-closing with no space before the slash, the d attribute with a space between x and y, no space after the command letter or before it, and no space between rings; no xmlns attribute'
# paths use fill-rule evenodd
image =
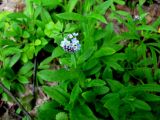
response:
<svg viewBox="0 0 160 120"><path fill-rule="evenodd" d="M31 115L27 112L27 110L24 108L24 106L17 100L16 97L13 96L13 94L0 82L0 87L3 89L5 93L7 93L14 102L17 103L17 105L22 109L23 113L28 116L29 120L32 120Z"/></svg>

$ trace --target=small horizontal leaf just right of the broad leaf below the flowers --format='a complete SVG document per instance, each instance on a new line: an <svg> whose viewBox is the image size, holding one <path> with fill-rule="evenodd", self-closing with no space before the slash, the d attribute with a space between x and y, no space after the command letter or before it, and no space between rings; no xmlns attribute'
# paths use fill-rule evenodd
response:
<svg viewBox="0 0 160 120"><path fill-rule="evenodd" d="M87 83L87 87L94 87L94 86L104 86L106 83L103 80L91 80Z"/></svg>

